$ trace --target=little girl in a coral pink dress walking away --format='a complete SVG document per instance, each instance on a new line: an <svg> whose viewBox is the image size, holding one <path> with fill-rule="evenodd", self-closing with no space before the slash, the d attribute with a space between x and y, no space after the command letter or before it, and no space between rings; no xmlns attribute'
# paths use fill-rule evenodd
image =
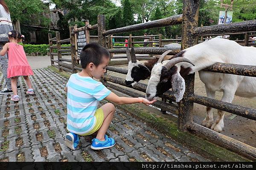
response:
<svg viewBox="0 0 256 170"><path fill-rule="evenodd" d="M3 56L8 51L9 61L7 69L7 77L11 78L12 85L12 101L19 101L19 96L17 95L17 79L20 76L26 81L26 84L29 86L26 94L34 94L34 90L31 85L31 80L29 75L34 75L33 71L26 59L26 54L22 45L19 45L18 42L22 40L21 34L18 31L12 30L8 33L8 39L10 42L4 45L3 50L0 52L0 55Z"/></svg>

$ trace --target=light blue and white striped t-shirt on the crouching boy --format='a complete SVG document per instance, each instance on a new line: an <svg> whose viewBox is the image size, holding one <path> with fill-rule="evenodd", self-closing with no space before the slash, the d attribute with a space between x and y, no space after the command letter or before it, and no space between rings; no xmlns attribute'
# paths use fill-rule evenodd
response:
<svg viewBox="0 0 256 170"><path fill-rule="evenodd" d="M67 130L76 134L90 132L96 124L99 101L111 91L91 77L72 74L67 82Z"/></svg>

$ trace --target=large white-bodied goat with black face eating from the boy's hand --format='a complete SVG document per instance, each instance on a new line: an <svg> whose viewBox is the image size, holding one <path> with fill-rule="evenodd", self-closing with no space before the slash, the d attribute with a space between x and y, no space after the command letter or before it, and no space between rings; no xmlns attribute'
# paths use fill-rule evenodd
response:
<svg viewBox="0 0 256 170"><path fill-rule="evenodd" d="M244 47L232 40L214 38L180 51L169 61L161 62L161 59L151 71L146 90L146 98L149 100L172 88L176 96L176 102L179 102L185 91L183 77L196 71L199 72L199 77L205 84L207 97L211 99L215 98L216 91L223 92L221 101L230 103L234 95L249 98L256 97L256 77L203 70L216 62L256 65L256 48L254 47ZM225 112L218 110L218 116L214 122L212 108L207 107L206 110L207 115L202 125L221 132L224 127Z"/></svg>

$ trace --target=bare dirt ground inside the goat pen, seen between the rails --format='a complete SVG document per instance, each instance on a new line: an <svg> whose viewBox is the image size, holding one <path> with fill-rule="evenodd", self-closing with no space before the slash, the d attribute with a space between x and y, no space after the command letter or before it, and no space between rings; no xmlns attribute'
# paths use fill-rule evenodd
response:
<svg viewBox="0 0 256 170"><path fill-rule="evenodd" d="M117 67L127 68L127 65L119 65ZM108 74L116 77L124 78L125 74L118 74L115 72L108 71ZM142 83L147 83L148 80L140 81ZM123 86L122 86L123 87ZM137 93L139 91L136 91ZM142 92L139 92L142 93ZM204 88L204 83L199 79L198 73L195 74L195 94L201 96L207 96ZM215 99L220 100L222 97L221 92L216 92ZM233 99L233 104L246 106L249 108L256 108L256 98L248 99L239 96L235 96ZM204 120L206 116L206 106L194 104L193 110L193 119L194 122L201 125L201 122ZM224 117L224 130L221 132L226 136L230 136L234 139L237 139L241 142L249 144L250 146L256 147L256 121L250 120L241 116L236 116L232 119L234 114L226 112ZM217 116L217 110L213 109L214 119Z"/></svg>

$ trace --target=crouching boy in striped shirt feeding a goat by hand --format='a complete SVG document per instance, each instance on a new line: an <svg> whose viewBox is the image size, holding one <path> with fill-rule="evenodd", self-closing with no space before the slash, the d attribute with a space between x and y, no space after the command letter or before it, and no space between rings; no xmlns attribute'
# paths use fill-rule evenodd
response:
<svg viewBox="0 0 256 170"><path fill-rule="evenodd" d="M115 145L113 138L105 135L115 113L115 107L107 103L97 109L99 101L108 99L116 104L144 103L151 105L145 98L119 97L106 88L99 79L106 72L110 60L109 52L96 43L84 46L80 53L82 71L72 74L67 82L67 133L65 144L75 150L79 144L79 135L87 136L97 132L92 140L94 150L109 148Z"/></svg>

